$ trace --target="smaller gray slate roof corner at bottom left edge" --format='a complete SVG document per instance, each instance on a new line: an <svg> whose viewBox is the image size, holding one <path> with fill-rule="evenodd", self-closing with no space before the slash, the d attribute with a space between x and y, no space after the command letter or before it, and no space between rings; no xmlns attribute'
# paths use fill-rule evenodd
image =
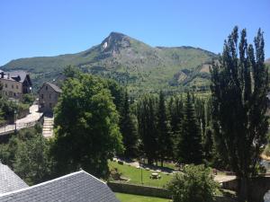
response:
<svg viewBox="0 0 270 202"><path fill-rule="evenodd" d="M0 162L0 195L27 187L28 185L14 171Z"/></svg>

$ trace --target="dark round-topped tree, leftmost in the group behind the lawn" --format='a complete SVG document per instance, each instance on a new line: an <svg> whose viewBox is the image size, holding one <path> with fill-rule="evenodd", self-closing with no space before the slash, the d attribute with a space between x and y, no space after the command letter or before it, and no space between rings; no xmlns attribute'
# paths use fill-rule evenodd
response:
<svg viewBox="0 0 270 202"><path fill-rule="evenodd" d="M153 96L144 96L137 105L138 131L143 153L152 164L157 160L157 101Z"/></svg>

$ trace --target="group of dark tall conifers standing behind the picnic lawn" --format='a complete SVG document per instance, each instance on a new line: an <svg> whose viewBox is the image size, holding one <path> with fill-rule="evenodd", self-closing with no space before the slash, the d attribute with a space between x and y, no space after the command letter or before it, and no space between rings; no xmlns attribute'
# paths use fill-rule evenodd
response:
<svg viewBox="0 0 270 202"><path fill-rule="evenodd" d="M163 165L164 160L202 162L202 130L195 101L200 103L190 92L184 98L175 96L168 101L163 92L159 92L158 98L146 95L136 103L140 154L146 154L148 163L160 161Z"/></svg>

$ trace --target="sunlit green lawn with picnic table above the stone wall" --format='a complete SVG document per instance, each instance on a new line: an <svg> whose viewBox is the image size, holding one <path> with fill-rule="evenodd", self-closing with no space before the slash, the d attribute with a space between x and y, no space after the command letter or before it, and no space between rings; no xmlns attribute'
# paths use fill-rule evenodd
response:
<svg viewBox="0 0 270 202"><path fill-rule="evenodd" d="M122 177L130 179L130 184L141 184L141 169L137 169L127 164L118 164L118 162L109 161L110 170L117 168L121 172ZM172 179L173 175L166 175L160 173L161 179L152 180L149 178L153 171L147 171L142 169L142 182L143 185L162 188L166 183Z"/></svg>

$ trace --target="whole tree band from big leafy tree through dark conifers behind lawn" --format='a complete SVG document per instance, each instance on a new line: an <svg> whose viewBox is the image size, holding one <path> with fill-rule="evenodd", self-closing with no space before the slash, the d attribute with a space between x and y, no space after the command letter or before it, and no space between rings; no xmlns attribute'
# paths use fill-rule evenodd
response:
<svg viewBox="0 0 270 202"><path fill-rule="evenodd" d="M149 164L161 162L162 166L166 160L203 161L202 134L209 113L193 93L168 99L161 91L158 96L146 94L131 101L127 90L112 80L83 74L72 66L65 75L51 146L57 173L83 168L104 176L107 159L115 154L147 158Z"/></svg>

